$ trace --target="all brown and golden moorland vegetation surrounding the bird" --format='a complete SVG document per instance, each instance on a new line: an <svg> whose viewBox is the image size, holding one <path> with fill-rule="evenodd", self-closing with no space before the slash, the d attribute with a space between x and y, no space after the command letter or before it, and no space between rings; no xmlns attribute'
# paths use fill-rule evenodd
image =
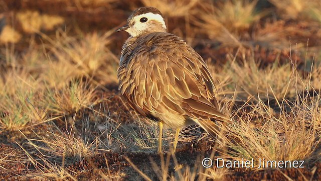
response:
<svg viewBox="0 0 321 181"><path fill-rule="evenodd" d="M0 0L6 11L0 16L6 18L0 34L1 179L320 179L318 1L17 3L27 9ZM127 35L110 27L125 18L116 13L105 21L99 12L123 16L143 5L161 10L174 23L169 32L209 57L222 111L233 120L223 155L196 126L182 131L177 153L155 154L157 125L129 109L117 92ZM39 7L51 10L44 14ZM164 134L168 150L174 135ZM218 156L254 158L255 164L259 158L304 160L305 168L202 166L204 157Z"/></svg>

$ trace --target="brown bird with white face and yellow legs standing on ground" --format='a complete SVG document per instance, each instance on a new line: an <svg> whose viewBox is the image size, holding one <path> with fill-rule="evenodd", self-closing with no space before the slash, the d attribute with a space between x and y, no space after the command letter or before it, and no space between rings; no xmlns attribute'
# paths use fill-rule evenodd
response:
<svg viewBox="0 0 321 181"><path fill-rule="evenodd" d="M153 7L132 12L121 49L118 89L129 106L158 123L158 153L162 153L163 127L180 130L197 124L213 137L218 121L230 119L220 111L214 81L203 58L182 38L168 33L162 13ZM221 129L222 131L222 129Z"/></svg>

